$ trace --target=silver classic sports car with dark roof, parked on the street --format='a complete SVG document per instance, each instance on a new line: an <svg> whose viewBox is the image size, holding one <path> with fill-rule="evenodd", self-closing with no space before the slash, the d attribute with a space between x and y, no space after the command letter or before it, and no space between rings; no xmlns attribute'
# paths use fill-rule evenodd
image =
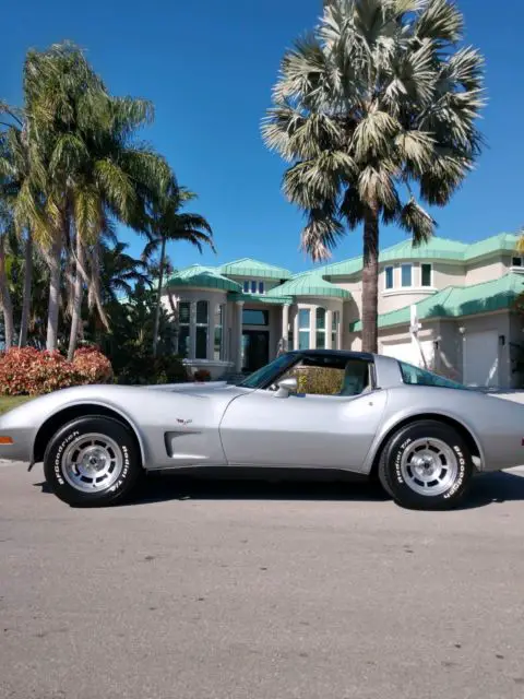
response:
<svg viewBox="0 0 524 699"><path fill-rule="evenodd" d="M144 470L254 466L378 476L404 507L451 508L474 473L523 463L523 446L524 405L329 350L283 354L239 386L85 386L0 418L0 459L43 461L74 506L121 501Z"/></svg>

